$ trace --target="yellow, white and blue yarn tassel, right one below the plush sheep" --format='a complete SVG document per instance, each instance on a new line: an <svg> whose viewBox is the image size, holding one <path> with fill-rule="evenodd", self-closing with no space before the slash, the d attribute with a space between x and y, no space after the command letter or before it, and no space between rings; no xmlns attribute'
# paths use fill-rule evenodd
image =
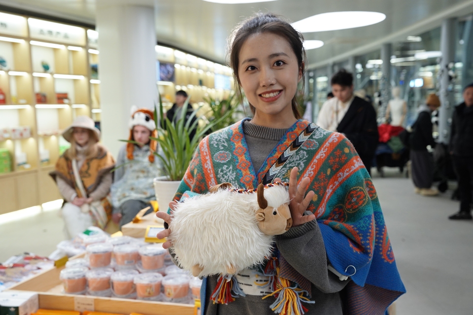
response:
<svg viewBox="0 0 473 315"><path fill-rule="evenodd" d="M279 275L279 267L277 267L277 274ZM313 304L315 301L310 301L304 294L308 292L299 288L297 285L291 286L291 282L285 278L277 277L277 289L271 294L263 297L263 300L269 296L274 296L276 301L271 304L271 310L280 315L303 315L307 309L302 305L304 303Z"/></svg>

